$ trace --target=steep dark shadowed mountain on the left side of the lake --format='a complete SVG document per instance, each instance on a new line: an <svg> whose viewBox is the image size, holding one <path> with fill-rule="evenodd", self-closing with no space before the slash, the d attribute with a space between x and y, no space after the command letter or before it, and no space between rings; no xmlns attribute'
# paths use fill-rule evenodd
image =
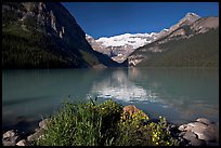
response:
<svg viewBox="0 0 221 148"><path fill-rule="evenodd" d="M122 66L94 51L58 2L2 3L2 68Z"/></svg>

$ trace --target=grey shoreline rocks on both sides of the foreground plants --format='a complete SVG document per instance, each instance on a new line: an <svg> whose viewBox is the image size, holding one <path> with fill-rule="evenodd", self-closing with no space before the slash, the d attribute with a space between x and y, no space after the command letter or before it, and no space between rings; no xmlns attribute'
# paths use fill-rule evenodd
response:
<svg viewBox="0 0 221 148"><path fill-rule="evenodd" d="M3 146L31 146L35 140L43 135L49 119L39 122L38 127L32 133L24 133L17 130L10 130L3 133ZM158 122L153 119L150 122ZM198 118L185 124L168 123L167 130L177 138L182 146L219 146L219 123L214 123L206 118Z"/></svg>

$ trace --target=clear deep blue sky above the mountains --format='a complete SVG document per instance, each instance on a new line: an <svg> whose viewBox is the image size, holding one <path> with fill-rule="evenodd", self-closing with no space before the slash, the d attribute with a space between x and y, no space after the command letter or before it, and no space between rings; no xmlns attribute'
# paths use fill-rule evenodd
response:
<svg viewBox="0 0 221 148"><path fill-rule="evenodd" d="M94 39L169 29L186 13L219 16L218 2L62 2Z"/></svg>

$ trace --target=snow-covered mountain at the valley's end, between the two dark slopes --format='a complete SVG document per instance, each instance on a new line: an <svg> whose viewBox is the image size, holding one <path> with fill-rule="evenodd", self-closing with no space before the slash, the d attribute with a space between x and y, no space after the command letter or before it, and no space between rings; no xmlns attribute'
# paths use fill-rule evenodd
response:
<svg viewBox="0 0 221 148"><path fill-rule="evenodd" d="M139 46L153 42L157 39L157 33L125 33L114 37L102 37L94 40L91 36L87 37L88 42L92 45L94 51L112 57L113 60L122 63L128 55Z"/></svg>

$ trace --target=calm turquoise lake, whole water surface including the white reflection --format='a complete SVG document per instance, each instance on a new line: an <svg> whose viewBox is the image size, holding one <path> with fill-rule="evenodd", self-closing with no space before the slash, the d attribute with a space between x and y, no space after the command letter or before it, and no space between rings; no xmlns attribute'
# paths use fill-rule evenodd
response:
<svg viewBox="0 0 221 148"><path fill-rule="evenodd" d="M32 130L68 96L135 105L173 123L219 122L219 68L29 69L2 71L2 127Z"/></svg>

